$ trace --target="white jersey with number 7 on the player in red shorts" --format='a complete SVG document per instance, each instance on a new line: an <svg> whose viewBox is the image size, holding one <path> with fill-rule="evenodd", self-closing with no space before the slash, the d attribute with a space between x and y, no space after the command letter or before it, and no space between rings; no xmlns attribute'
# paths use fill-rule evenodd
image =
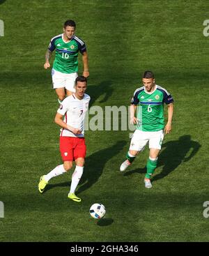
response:
<svg viewBox="0 0 209 256"><path fill-rule="evenodd" d="M90 96L84 93L84 98L82 98L82 100L76 98L75 94L72 94L63 100L57 112L64 116L63 121L65 123L73 128L81 130L82 134L75 135L70 132L70 130L61 128L60 136L84 137L84 118L88 111L90 99Z"/></svg>

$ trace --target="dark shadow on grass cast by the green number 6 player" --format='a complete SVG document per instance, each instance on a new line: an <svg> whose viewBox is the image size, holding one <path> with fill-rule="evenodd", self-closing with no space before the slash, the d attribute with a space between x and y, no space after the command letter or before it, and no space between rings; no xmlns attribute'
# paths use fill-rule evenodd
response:
<svg viewBox="0 0 209 256"><path fill-rule="evenodd" d="M199 151L201 144L191 140L191 135L180 136L178 140L172 140L162 144L162 151L159 156L157 167L162 167L162 172L153 176L152 181L163 179L169 173L183 162L189 161ZM164 149L164 150L163 150ZM192 150L192 151L191 151ZM191 152L190 152L191 151ZM189 156L187 156L189 154ZM138 156L140 157L140 155ZM124 175L130 175L134 172L146 173L146 167L136 170L130 170Z"/></svg>

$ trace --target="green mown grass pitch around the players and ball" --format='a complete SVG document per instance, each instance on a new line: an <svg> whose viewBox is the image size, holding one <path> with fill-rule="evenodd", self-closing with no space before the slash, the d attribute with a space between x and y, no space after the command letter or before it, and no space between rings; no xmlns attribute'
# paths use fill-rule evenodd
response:
<svg viewBox="0 0 209 256"><path fill-rule="evenodd" d="M14 6L14 0L0 1L0 241L208 241L208 1L33 0ZM40 176L61 164L53 122L59 105L43 64L50 38L68 19L87 45L92 105L130 105L144 70L153 70L175 100L173 130L150 190L143 182L148 149L119 172L129 130L89 130L77 191L82 203L67 198L72 172L38 192ZM88 213L95 202L107 209L100 221Z"/></svg>

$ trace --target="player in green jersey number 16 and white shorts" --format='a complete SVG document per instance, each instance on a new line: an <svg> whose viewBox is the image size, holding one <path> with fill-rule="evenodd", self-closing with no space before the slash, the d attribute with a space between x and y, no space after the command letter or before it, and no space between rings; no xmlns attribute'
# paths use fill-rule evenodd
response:
<svg viewBox="0 0 209 256"><path fill-rule="evenodd" d="M75 36L76 24L73 20L67 20L63 27L63 33L54 36L49 43L45 54L44 68L50 68L49 59L55 50L55 59L52 67L52 84L58 96L59 103L67 96L75 93L75 79L78 72L78 54L82 54L84 72L88 77L88 54L84 41Z"/></svg>

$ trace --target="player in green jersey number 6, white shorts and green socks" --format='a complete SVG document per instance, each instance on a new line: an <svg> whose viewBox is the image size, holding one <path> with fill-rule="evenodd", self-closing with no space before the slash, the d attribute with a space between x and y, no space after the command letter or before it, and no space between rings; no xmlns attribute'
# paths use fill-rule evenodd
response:
<svg viewBox="0 0 209 256"><path fill-rule="evenodd" d="M136 125L136 130L130 142L127 159L122 163L120 170L121 172L125 171L149 142L150 153L146 164L147 172L144 183L146 188L152 188L150 179L157 167L162 140L165 134L171 132L173 98L166 89L155 84L153 72L145 71L142 82L144 86L134 91L131 101L130 123ZM164 103L168 107L166 126L164 126ZM136 111L137 108L138 111ZM137 117L135 116L136 112Z"/></svg>

